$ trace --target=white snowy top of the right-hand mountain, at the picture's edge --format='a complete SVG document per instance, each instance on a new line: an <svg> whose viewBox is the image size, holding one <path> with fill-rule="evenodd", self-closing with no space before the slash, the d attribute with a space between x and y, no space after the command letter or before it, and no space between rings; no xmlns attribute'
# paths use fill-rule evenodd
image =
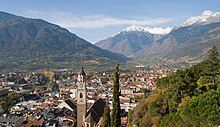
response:
<svg viewBox="0 0 220 127"><path fill-rule="evenodd" d="M201 16L195 16L188 18L185 22L183 22L180 27L190 26L193 24L209 24L220 22L220 12L212 12L206 10L202 13Z"/></svg>

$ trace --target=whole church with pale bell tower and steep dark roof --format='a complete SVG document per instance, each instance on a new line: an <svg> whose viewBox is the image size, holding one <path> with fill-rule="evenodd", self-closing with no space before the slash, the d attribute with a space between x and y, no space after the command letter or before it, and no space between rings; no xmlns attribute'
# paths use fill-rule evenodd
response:
<svg viewBox="0 0 220 127"><path fill-rule="evenodd" d="M77 78L77 127L100 127L104 107L101 98L87 107L86 73L82 67Z"/></svg>

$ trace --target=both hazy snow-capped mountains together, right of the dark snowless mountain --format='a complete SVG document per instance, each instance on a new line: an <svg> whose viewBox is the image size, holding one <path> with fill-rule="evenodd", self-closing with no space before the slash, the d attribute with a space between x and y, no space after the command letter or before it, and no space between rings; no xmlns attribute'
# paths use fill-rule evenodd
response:
<svg viewBox="0 0 220 127"><path fill-rule="evenodd" d="M131 26L95 45L128 57L162 56L174 59L203 57L213 44L220 48L219 12L204 11L201 16L191 17L172 30L150 30Z"/></svg>

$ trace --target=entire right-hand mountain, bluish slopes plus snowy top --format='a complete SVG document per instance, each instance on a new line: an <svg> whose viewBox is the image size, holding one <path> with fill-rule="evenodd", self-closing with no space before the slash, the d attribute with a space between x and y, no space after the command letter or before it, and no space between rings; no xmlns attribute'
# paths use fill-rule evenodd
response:
<svg viewBox="0 0 220 127"><path fill-rule="evenodd" d="M166 58L203 57L214 44L220 49L220 13L205 11L201 16L187 19L155 41L147 52L143 49L139 54L159 54Z"/></svg>

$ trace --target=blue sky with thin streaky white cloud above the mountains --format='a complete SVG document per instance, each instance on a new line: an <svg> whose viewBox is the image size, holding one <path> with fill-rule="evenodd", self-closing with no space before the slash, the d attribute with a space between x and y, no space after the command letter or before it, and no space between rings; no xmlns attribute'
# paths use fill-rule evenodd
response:
<svg viewBox="0 0 220 127"><path fill-rule="evenodd" d="M92 43L133 24L174 27L219 7L220 0L0 0L1 11L44 19Z"/></svg>

